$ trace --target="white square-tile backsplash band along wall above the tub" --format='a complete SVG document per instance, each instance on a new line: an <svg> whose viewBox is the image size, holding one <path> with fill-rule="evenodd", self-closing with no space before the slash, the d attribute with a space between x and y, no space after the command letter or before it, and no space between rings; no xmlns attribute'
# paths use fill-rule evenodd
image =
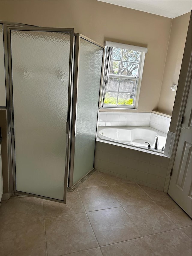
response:
<svg viewBox="0 0 192 256"><path fill-rule="evenodd" d="M99 112L98 126L149 126L167 133L171 118L150 112Z"/></svg>

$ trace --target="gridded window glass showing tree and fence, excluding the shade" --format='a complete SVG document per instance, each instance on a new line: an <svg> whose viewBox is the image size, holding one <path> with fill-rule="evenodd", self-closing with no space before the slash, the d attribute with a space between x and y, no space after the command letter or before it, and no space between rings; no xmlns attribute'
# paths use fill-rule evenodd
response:
<svg viewBox="0 0 192 256"><path fill-rule="evenodd" d="M104 104L133 107L141 52L112 47Z"/></svg>

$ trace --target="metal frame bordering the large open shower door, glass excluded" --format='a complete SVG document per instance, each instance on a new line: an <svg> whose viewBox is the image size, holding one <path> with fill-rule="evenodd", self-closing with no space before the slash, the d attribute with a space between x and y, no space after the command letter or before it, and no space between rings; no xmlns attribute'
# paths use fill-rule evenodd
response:
<svg viewBox="0 0 192 256"><path fill-rule="evenodd" d="M48 27L35 27L35 26L10 26L5 24L7 31L6 40L6 96L7 97L7 114L9 113L9 118L7 119L8 128L8 151L9 151L9 189L10 194L24 194L33 197L38 197L42 199L49 199L55 202L66 203L67 194L67 182L68 182L68 172L69 172L69 155L70 155L70 124L71 124L71 101L73 92L73 38L74 29L71 28L48 28ZM13 116L13 85L12 85L12 65L11 65L11 30L24 30L24 31L47 31L47 32L69 32L70 33L70 53L69 53L69 81L68 81L68 109L67 109L67 122L66 122L66 156L65 156L65 173L64 173L64 200L58 200L54 198L44 197L36 194L26 193L16 190L16 167L15 167L15 146L14 146L14 116Z"/></svg>

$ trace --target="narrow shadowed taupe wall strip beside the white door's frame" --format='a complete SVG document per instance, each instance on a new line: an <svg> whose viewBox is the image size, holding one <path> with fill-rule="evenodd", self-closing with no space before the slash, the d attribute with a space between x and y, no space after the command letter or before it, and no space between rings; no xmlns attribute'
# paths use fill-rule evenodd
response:
<svg viewBox="0 0 192 256"><path fill-rule="evenodd" d="M179 112L181 109L185 83L187 80L187 72L188 72L190 58L191 58L191 52L192 52L191 38L192 38L192 22L191 22L191 16L190 16L189 27L188 27L188 31L187 31L187 38L186 38L186 43L185 43L185 48L184 48L182 65L181 65L181 71L180 71L180 75L179 75L178 88L177 88L177 93L176 93L175 102L174 102L174 106L173 106L172 119L171 119L171 123L170 123L170 131L174 132L174 133L176 132L177 123L179 121L178 120Z"/></svg>

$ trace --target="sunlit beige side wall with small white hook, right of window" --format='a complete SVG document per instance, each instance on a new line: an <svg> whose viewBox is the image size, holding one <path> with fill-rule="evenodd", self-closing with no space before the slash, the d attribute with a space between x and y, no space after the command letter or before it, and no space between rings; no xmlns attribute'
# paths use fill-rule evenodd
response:
<svg viewBox="0 0 192 256"><path fill-rule="evenodd" d="M161 94L157 108L158 111L169 115L172 114L176 95L176 91L173 92L170 87L173 84L176 84L176 86L178 84L189 19L190 13L181 15L173 19L171 26Z"/></svg>

